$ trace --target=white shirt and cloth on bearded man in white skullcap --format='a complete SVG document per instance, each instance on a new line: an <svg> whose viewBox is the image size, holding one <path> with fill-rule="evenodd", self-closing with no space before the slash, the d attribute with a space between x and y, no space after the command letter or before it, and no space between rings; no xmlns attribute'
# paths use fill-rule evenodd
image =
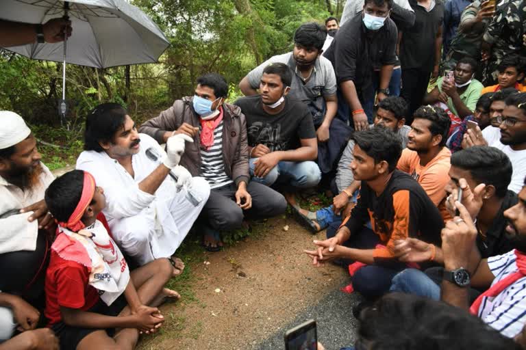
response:
<svg viewBox="0 0 526 350"><path fill-rule="evenodd" d="M43 170L40 174L40 182L33 189L23 191L0 176L0 215L14 209L25 208L44 199L45 191L54 177L46 165L43 163L40 165ZM36 249L38 221L27 221L32 213L30 211L0 219L0 254Z"/></svg>

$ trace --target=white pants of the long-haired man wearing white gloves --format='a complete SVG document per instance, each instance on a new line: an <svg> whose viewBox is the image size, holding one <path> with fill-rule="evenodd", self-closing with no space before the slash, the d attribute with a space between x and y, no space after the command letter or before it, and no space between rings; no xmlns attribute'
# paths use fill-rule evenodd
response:
<svg viewBox="0 0 526 350"><path fill-rule="evenodd" d="M186 199L186 189L173 196L163 193L139 215L108 222L118 246L139 265L155 258L169 258L181 245L210 196L210 185L201 177L192 179L192 193L201 198L198 206ZM163 198L161 198L163 197Z"/></svg>

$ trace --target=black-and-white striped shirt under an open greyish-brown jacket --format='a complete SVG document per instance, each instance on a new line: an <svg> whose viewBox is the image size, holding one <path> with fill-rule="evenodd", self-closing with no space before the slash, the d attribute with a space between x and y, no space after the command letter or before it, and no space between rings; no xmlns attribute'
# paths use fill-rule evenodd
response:
<svg viewBox="0 0 526 350"><path fill-rule="evenodd" d="M234 182L225 172L223 161L223 120L214 130L214 144L208 150L201 146L201 176L208 181L211 189Z"/></svg>

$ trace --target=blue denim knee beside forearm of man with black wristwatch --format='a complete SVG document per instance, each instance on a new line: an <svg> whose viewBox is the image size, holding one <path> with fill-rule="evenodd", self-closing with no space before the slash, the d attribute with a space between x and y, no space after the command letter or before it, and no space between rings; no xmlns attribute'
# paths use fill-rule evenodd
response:
<svg viewBox="0 0 526 350"><path fill-rule="evenodd" d="M423 271L405 269L392 278L391 292L420 295L429 299L440 300L440 286Z"/></svg>

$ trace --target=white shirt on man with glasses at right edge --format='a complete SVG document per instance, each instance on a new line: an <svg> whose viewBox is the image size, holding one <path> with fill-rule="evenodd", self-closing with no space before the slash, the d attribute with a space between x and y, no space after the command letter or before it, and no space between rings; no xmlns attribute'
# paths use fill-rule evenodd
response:
<svg viewBox="0 0 526 350"><path fill-rule="evenodd" d="M482 131L482 136L484 136L489 146L499 148L499 150L510 158L513 173L512 182L508 186L508 189L519 193L524 186L524 178L526 177L526 150L512 150L510 146L502 144L501 129L495 126L486 126Z"/></svg>

